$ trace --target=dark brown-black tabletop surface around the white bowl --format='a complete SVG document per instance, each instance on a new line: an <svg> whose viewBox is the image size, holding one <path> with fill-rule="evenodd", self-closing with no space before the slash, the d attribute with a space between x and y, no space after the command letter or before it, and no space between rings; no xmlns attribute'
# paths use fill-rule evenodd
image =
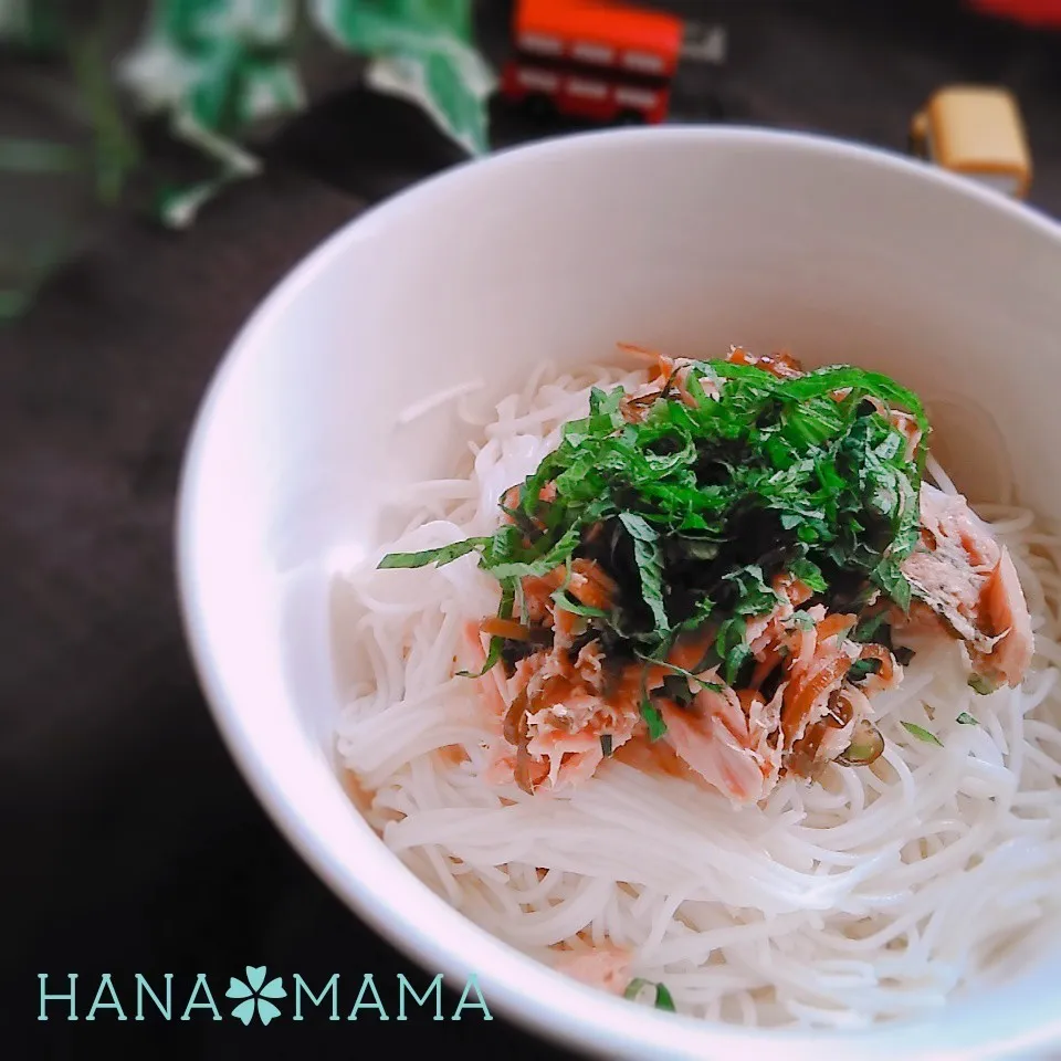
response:
<svg viewBox="0 0 1061 1061"><path fill-rule="evenodd" d="M723 67L684 70L673 117L816 130L902 150L937 86L1000 83L1020 99L1031 201L1061 214L1061 35L976 19L943 0L670 4L722 21ZM506 4L482 6L503 57ZM497 108L506 146L569 126ZM82 1058L347 1058L466 1044L551 1052L475 1011L356 1025L39 1021L38 974L132 984L248 965L360 981L430 977L361 925L292 853L221 746L175 602L174 494L197 405L245 316L326 234L460 153L403 104L344 91L271 145L264 179L232 190L187 233L116 223L0 333L0 1054ZM119 988L123 999L129 997ZM345 999L346 1005L349 1000ZM78 1000L84 1016L91 998ZM230 1004L231 1005L231 1004ZM449 1008L452 1002L449 1004ZM175 1013L175 1017L177 1015ZM422 1044L421 1044L422 1048ZM556 1057L563 1054L555 1053Z"/></svg>

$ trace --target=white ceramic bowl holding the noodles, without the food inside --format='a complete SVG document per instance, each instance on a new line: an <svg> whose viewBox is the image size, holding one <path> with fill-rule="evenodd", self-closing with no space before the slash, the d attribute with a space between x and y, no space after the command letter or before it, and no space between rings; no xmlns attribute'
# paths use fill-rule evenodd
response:
<svg viewBox="0 0 1061 1061"><path fill-rule="evenodd" d="M954 402L989 406L1022 498L1058 518L1059 283L1061 228L1031 210L902 158L753 129L553 140L451 170L357 219L243 329L187 456L187 631L239 766L351 910L432 974L463 985L475 973L494 1011L576 1049L786 1061L1054 1053L1057 950L1019 984L916 1023L790 1034L613 999L480 931L389 853L336 779L325 568L337 548L375 544L395 484L445 473L464 444L445 411L401 426L401 408L477 377L501 395L544 357L600 359L620 339L677 355L785 346L811 364L884 369L938 399L941 419ZM959 485L975 494L1004 473L983 418L952 416L943 433Z"/></svg>

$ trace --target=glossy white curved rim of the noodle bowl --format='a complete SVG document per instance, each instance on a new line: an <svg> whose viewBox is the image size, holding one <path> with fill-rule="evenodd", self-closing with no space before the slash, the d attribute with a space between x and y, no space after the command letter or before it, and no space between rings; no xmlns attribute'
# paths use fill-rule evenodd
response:
<svg viewBox="0 0 1061 1061"><path fill-rule="evenodd" d="M917 181L935 183L956 196L979 202L985 209L1009 217L1016 224L1032 229L1053 241L1061 250L1061 224L1037 208L1006 198L1000 192L974 180L950 174L937 166L913 159L883 148L865 146L842 138L817 133L788 132L746 125L698 126L668 125L649 128L605 129L559 135L497 150L472 158L427 177L402 191L355 214L336 231L325 237L276 281L259 302L255 309L230 340L200 399L192 429L188 437L181 464L174 522L174 556L178 608L185 640L192 665L214 724L229 755L264 808L274 826L306 862L317 878L337 899L368 924L377 934L429 971L441 971L447 981L463 984L466 967L461 957L435 942L428 918L416 911L397 910L388 915L387 901L378 892L366 893L350 880L338 864L326 843L316 834L312 823L293 807L277 785L270 763L259 757L251 747L242 722L243 712L230 696L220 659L203 635L203 611L197 591L197 559L192 547L192 526L197 518L197 490L203 474L204 461L216 409L228 389L228 382L238 365L253 357L256 338L266 330L271 319L281 315L286 304L309 285L318 273L326 272L334 259L342 256L346 244L356 240L366 222L397 217L421 202L444 195L451 185L466 178L470 170L503 171L524 161L554 155L572 155L607 147L617 141L642 144L647 149L665 147L668 143L697 141L710 145L747 145L796 150L805 154L831 156L865 165L891 169ZM381 843L381 841L380 841ZM405 872L413 875L411 871ZM753 1057L775 1057L785 1052L789 1061L830 1061L852 1055L893 1061L896 1050L907 1059L938 1058L939 1051L950 1046L948 1027L935 1026L931 1020L902 1021L872 1026L854 1031L837 1030L811 1032L803 1029L756 1029L713 1023L692 1017L659 1013L632 1007L596 989L586 988L564 978L564 991L550 992L550 1002L559 1002L559 1012L548 1008L521 987L522 977L537 978L532 969L551 973L536 959L521 954L492 934L477 929L473 922L456 911L472 932L489 937L487 949L496 958L501 971L480 974L480 985L491 1009L502 1012L512 1023L542 1041L551 1041L584 1057L600 1058L728 1058L734 1050ZM489 985L489 990L486 988ZM932 1017L938 1018L950 1007ZM1027 1006L1026 1006L1027 1008ZM994 1017L997 1013L991 1011ZM1031 1023L1018 1015L1007 1012L1008 1019L992 1019L978 1029L975 1044L969 1043L962 1057L980 1061L1004 1058L1041 1055L1047 1047L1061 1044L1061 1011L1057 1007L1032 1007ZM1015 1019L1015 1017L1017 1019Z"/></svg>

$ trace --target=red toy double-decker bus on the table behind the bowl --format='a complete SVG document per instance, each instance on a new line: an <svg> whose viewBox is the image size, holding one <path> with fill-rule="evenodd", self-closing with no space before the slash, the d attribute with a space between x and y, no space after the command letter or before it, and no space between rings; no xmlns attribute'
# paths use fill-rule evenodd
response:
<svg viewBox="0 0 1061 1061"><path fill-rule="evenodd" d="M681 19L603 0L521 0L513 35L506 98L599 123L666 117Z"/></svg>

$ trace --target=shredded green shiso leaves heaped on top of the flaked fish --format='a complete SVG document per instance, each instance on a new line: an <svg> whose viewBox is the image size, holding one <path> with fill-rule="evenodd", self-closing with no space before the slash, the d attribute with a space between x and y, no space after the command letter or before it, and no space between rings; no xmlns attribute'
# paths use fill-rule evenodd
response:
<svg viewBox="0 0 1061 1061"><path fill-rule="evenodd" d="M606 652L660 661L681 633L711 621L715 652L705 663L731 683L748 659L745 620L778 602L779 574L801 579L830 610L857 612L874 589L907 610L900 565L918 537L928 435L917 397L851 366L782 379L696 361L684 386L691 401L671 396L669 382L640 422L624 418L621 387L595 388L589 414L565 426L518 503L503 505L511 523L439 549L389 554L379 566L477 553L502 587L498 614L510 618L522 578L590 558L619 587L609 609L582 608L564 592L554 600L584 616ZM882 408L916 420L913 460ZM501 651L495 639L491 665Z"/></svg>

